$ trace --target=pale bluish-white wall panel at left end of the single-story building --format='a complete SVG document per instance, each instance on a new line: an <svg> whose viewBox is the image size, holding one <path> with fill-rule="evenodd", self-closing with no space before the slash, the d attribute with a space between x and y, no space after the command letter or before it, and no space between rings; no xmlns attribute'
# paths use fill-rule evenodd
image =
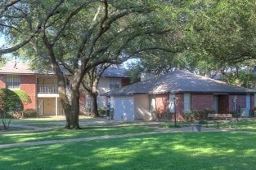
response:
<svg viewBox="0 0 256 170"><path fill-rule="evenodd" d="M134 98L133 96L116 96L114 98L114 119L134 120Z"/></svg>

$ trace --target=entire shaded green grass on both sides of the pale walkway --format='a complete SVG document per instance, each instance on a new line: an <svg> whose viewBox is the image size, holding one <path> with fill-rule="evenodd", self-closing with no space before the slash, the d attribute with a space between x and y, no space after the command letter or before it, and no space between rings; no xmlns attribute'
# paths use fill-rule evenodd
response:
<svg viewBox="0 0 256 170"><path fill-rule="evenodd" d="M76 137L96 137L152 132L154 126L140 122L89 124L66 130L60 120L17 120L20 124L51 127L42 132L0 134L0 144L37 142ZM59 122L60 123L60 122ZM18 124L18 123L17 123ZM50 124L50 125L49 125ZM144 123L145 124L145 123ZM255 131L255 119L232 122L236 130ZM173 128L173 123L158 124ZM210 124L212 126L216 124ZM222 122L220 128L229 124ZM255 169L256 135L249 133L159 133L89 142L57 143L0 149L0 169Z"/></svg>

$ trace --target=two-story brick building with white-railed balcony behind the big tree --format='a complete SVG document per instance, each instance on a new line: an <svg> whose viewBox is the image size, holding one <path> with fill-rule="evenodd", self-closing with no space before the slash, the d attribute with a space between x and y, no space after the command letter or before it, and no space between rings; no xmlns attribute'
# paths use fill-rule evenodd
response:
<svg viewBox="0 0 256 170"><path fill-rule="evenodd" d="M127 76L122 76L122 72L118 68L112 70L118 73L116 75L107 71L105 77L100 80L99 92L103 93L111 89L111 85L115 88L121 88L129 83ZM69 72L65 72L67 87L72 78ZM108 76L107 76L108 75ZM104 86L105 85L105 86ZM0 88L21 89L24 90L31 98L31 103L24 106L25 110L36 110L39 116L60 116L64 115L61 101L58 94L57 78L54 72L39 72L29 69L26 63L8 62L0 68ZM103 107L104 101L99 98L100 106ZM80 111L85 112L89 107L89 98L86 92L80 89Z"/></svg>

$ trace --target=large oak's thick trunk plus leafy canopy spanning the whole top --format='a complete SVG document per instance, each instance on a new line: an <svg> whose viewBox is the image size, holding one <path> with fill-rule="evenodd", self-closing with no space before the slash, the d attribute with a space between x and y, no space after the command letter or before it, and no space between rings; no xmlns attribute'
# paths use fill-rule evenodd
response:
<svg viewBox="0 0 256 170"><path fill-rule="evenodd" d="M207 74L255 59L254 0L11 2L0 2L0 33L8 41L0 54L16 51L56 72L70 129L79 129L84 76L101 64L138 57L156 72ZM70 90L61 68L72 74Z"/></svg>

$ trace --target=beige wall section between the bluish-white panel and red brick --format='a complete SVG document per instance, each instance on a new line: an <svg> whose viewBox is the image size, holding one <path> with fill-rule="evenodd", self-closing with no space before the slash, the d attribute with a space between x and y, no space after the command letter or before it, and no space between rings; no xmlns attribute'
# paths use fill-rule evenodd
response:
<svg viewBox="0 0 256 170"><path fill-rule="evenodd" d="M151 120L149 95L134 95L134 119L135 120Z"/></svg>

